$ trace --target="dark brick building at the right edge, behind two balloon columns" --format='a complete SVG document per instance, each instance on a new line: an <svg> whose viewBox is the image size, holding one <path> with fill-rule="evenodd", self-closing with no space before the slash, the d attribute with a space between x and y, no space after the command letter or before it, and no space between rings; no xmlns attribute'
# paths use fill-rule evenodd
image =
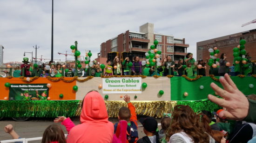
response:
<svg viewBox="0 0 256 143"><path fill-rule="evenodd" d="M233 63L233 48L239 45L241 39L246 40L245 50L249 53L251 60L256 60L256 29L197 42L197 59L203 59L204 61L206 58L209 59L209 48L218 47L220 50L218 58L222 53L226 53L227 61Z"/></svg>

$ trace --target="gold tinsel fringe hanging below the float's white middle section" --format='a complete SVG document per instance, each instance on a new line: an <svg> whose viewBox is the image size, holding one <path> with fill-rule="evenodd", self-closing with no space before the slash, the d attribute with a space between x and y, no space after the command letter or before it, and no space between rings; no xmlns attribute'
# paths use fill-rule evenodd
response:
<svg viewBox="0 0 256 143"><path fill-rule="evenodd" d="M162 118L163 113L170 113L177 105L176 101L133 101L138 115ZM118 117L118 111L121 107L127 107L124 101L105 101L108 109L108 117Z"/></svg>

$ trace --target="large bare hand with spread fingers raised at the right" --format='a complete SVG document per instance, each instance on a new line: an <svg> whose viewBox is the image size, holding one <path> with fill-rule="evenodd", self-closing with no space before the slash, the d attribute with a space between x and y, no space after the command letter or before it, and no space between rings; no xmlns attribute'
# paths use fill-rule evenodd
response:
<svg viewBox="0 0 256 143"><path fill-rule="evenodd" d="M228 74L224 75L224 78L220 78L220 82L224 87L224 90L218 87L215 83L211 83L211 88L218 93L223 99L219 99L211 94L208 98L218 104L225 107L227 110L219 113L222 118L229 118L233 120L242 120L248 115L249 101L245 95L236 87L236 84L231 80Z"/></svg>

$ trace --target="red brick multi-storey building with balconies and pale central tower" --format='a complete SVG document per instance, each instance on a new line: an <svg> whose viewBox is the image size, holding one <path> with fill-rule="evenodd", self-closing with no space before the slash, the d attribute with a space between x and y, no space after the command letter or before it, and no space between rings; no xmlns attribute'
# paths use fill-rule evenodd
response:
<svg viewBox="0 0 256 143"><path fill-rule="evenodd" d="M109 52L131 52L133 56L146 58L145 52L153 45L154 40L159 42L157 49L162 51L160 58L171 55L177 61L184 58L189 44L185 44L185 38L175 38L171 35L154 33L154 24L146 23L140 26L140 32L125 31L118 36L101 44L99 58L107 58ZM98 60L96 59L96 60Z"/></svg>

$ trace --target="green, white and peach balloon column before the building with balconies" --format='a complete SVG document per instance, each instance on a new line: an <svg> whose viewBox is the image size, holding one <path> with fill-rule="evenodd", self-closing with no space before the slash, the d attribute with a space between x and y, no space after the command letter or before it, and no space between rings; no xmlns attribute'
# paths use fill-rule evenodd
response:
<svg viewBox="0 0 256 143"><path fill-rule="evenodd" d="M160 62L160 55L161 55L161 50L157 50L157 44L158 41L155 40L154 41L154 45L150 46L150 50L148 50L148 52L145 53L146 56L146 61L142 61L141 64L142 66L146 65L146 67L149 66L161 66L161 62Z"/></svg>

